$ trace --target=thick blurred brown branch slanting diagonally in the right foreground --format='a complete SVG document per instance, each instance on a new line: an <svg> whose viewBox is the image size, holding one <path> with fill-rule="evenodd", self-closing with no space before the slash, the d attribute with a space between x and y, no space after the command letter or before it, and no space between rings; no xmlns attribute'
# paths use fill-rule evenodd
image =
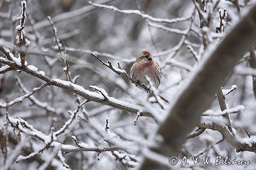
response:
<svg viewBox="0 0 256 170"><path fill-rule="evenodd" d="M255 16L256 5L227 34L218 47L204 57L204 60L198 65L198 69L173 99L169 116L157 130L157 133L163 136L163 145L171 147L173 150L166 150L166 147L151 148L151 150L166 156L178 154L179 148L186 139L186 134L197 125L201 113L212 103L218 88L256 40ZM145 159L140 169L165 170L169 167L163 167Z"/></svg>

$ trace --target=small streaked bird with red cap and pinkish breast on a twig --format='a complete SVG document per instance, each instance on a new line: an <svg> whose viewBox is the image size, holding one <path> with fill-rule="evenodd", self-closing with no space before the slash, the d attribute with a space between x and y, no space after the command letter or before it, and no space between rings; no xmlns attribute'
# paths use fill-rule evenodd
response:
<svg viewBox="0 0 256 170"><path fill-rule="evenodd" d="M148 84L146 75L154 83L154 87L158 88L162 79L159 64L154 61L150 52L143 50L131 66L131 77L140 83Z"/></svg>

